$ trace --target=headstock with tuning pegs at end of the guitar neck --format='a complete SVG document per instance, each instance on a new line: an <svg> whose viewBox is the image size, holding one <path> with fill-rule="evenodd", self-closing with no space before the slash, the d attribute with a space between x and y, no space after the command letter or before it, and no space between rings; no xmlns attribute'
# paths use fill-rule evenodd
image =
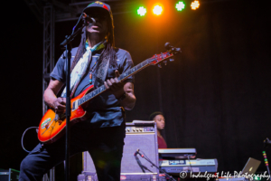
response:
<svg viewBox="0 0 271 181"><path fill-rule="evenodd" d="M173 62L174 54L181 52L180 48L175 48L170 43L165 43L164 47L167 51L161 52L160 54L154 54L154 56L149 59L149 62L148 62L149 64L151 65L158 64L158 67L162 68L160 64L161 62L164 62L164 65L166 65L168 59L170 62Z"/></svg>

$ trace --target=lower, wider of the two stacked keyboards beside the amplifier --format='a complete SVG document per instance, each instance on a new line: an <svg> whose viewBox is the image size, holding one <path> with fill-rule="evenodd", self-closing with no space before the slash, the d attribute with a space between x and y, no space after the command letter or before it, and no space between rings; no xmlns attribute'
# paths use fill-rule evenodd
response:
<svg viewBox="0 0 271 181"><path fill-rule="evenodd" d="M182 160L161 160L159 167L169 175L180 175L180 172L193 173L216 173L218 171L217 159L182 159ZM189 176L189 175L188 175Z"/></svg>

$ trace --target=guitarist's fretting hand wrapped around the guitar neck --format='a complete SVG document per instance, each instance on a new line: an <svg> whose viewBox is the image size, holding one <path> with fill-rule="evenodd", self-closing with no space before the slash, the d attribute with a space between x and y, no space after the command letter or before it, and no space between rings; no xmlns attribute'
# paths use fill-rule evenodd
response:
<svg viewBox="0 0 271 181"><path fill-rule="evenodd" d="M110 90L115 97L118 99L120 98L126 91L124 90L124 85L125 83L118 81L118 77L119 77L119 72L116 70L115 71L115 75L116 77L113 79L109 79L107 81L104 82L105 87L107 88L107 90Z"/></svg>

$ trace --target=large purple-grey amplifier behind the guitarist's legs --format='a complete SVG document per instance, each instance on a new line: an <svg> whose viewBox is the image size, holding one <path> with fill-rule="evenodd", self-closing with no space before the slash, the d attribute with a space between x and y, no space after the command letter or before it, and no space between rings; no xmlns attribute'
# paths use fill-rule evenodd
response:
<svg viewBox="0 0 271 181"><path fill-rule="evenodd" d="M154 121L140 121L135 120L133 123L126 123L126 138L123 150L123 157L121 161L121 175L135 175L152 173L152 175L159 174L156 167L151 167L151 164L143 157L138 155L135 157L135 151L139 149L146 157L148 157L158 167L158 143L156 124ZM136 160L137 159L137 160ZM139 166L147 167L148 170L143 171ZM96 173L92 158L89 152L83 152L83 173Z"/></svg>

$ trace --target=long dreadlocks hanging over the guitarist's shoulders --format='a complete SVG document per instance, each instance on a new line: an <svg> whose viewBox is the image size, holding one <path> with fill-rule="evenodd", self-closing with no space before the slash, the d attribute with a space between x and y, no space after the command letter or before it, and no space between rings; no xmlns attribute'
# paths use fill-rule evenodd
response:
<svg viewBox="0 0 271 181"><path fill-rule="evenodd" d="M113 24L111 24L111 21L108 22L108 34L107 34L107 43L105 43L105 48L101 52L101 55L99 57L99 62L103 62L104 59L109 60L109 67L111 69L116 69L117 68L117 55L114 50L115 48L115 40L114 40L114 29L113 29ZM81 41L79 43L78 50L75 54L74 60L70 66L70 71L72 71L79 62L80 58L83 56L83 54L87 51L86 50L86 41L87 41L87 30L86 27L82 29L82 34L81 34Z"/></svg>

